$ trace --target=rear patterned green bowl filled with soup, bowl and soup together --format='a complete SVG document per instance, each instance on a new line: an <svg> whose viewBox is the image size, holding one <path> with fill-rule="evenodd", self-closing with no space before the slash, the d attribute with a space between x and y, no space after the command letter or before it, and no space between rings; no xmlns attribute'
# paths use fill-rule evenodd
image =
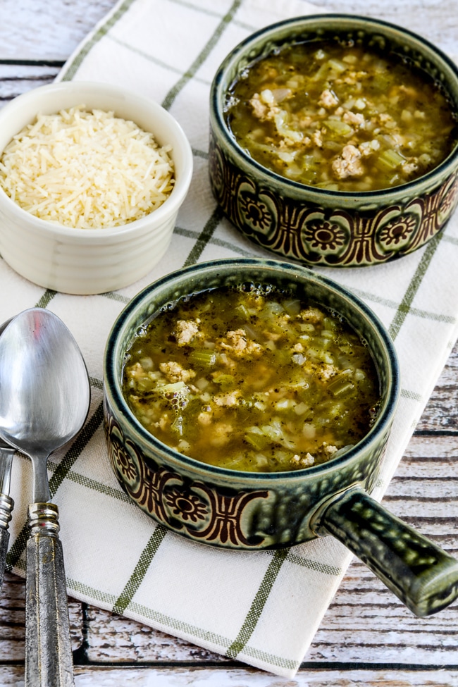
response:
<svg viewBox="0 0 458 687"><path fill-rule="evenodd" d="M235 47L213 80L213 194L282 256L398 258L457 204L457 112L457 67L425 39L355 16L285 20Z"/></svg>

